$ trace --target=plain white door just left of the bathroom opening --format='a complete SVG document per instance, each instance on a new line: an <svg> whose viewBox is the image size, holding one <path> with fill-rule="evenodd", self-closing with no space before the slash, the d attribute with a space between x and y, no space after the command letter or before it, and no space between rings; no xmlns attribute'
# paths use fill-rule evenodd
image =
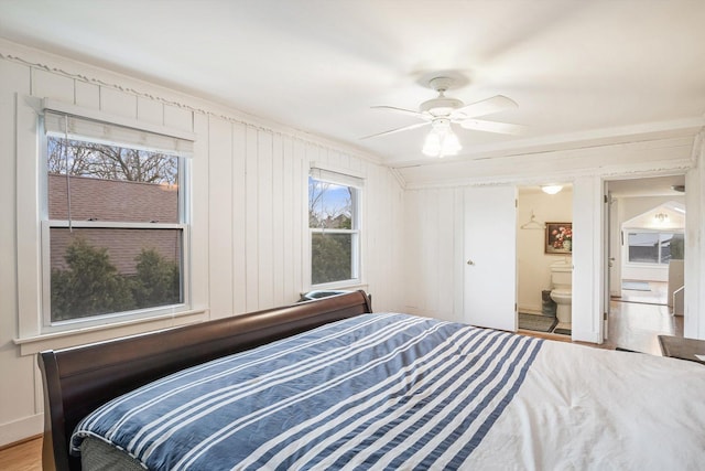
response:
<svg viewBox="0 0 705 471"><path fill-rule="evenodd" d="M465 190L465 322L517 330L517 191Z"/></svg>

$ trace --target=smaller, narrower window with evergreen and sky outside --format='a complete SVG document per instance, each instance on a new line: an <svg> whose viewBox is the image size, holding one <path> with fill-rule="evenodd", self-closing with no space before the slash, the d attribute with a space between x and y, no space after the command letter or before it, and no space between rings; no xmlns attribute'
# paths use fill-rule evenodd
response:
<svg viewBox="0 0 705 471"><path fill-rule="evenodd" d="M308 178L311 283L359 280L361 179L312 169Z"/></svg>

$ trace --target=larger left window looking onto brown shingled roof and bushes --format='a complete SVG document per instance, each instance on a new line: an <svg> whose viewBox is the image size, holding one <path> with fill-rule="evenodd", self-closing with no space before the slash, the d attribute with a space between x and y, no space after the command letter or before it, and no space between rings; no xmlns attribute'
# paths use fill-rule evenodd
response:
<svg viewBox="0 0 705 471"><path fill-rule="evenodd" d="M44 115L45 325L184 307L192 142Z"/></svg>

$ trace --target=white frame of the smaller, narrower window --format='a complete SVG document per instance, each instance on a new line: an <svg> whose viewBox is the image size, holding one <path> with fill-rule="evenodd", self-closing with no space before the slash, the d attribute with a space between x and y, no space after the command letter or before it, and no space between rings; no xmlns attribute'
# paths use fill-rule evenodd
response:
<svg viewBox="0 0 705 471"><path fill-rule="evenodd" d="M362 193L365 188L365 180L352 173L341 170L328 170L325 168L311 167L310 173L306 175L306 181L313 179L318 182L330 183L338 186L345 186L354 189L351 197L351 228L318 228L311 227L310 214L306 211L306 227L308 235L308 280L307 285L314 290L347 288L351 286L359 286L362 283ZM308 189L308 185L306 185ZM306 190L306 200L310 199L308 190ZM351 236L350 246L350 278L336 281L327 281L323 283L313 282L313 235L314 234L349 234Z"/></svg>

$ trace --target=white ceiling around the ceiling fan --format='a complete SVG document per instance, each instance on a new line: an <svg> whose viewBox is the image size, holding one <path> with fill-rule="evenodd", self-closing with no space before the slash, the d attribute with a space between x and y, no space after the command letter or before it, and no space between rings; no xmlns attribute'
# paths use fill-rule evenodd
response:
<svg viewBox="0 0 705 471"><path fill-rule="evenodd" d="M436 71L522 136L457 128L458 159L649 132L705 113L703 0L0 0L0 36L369 151L424 162L415 109ZM684 131L685 130L685 131ZM629 139L629 138L625 138Z"/></svg>

